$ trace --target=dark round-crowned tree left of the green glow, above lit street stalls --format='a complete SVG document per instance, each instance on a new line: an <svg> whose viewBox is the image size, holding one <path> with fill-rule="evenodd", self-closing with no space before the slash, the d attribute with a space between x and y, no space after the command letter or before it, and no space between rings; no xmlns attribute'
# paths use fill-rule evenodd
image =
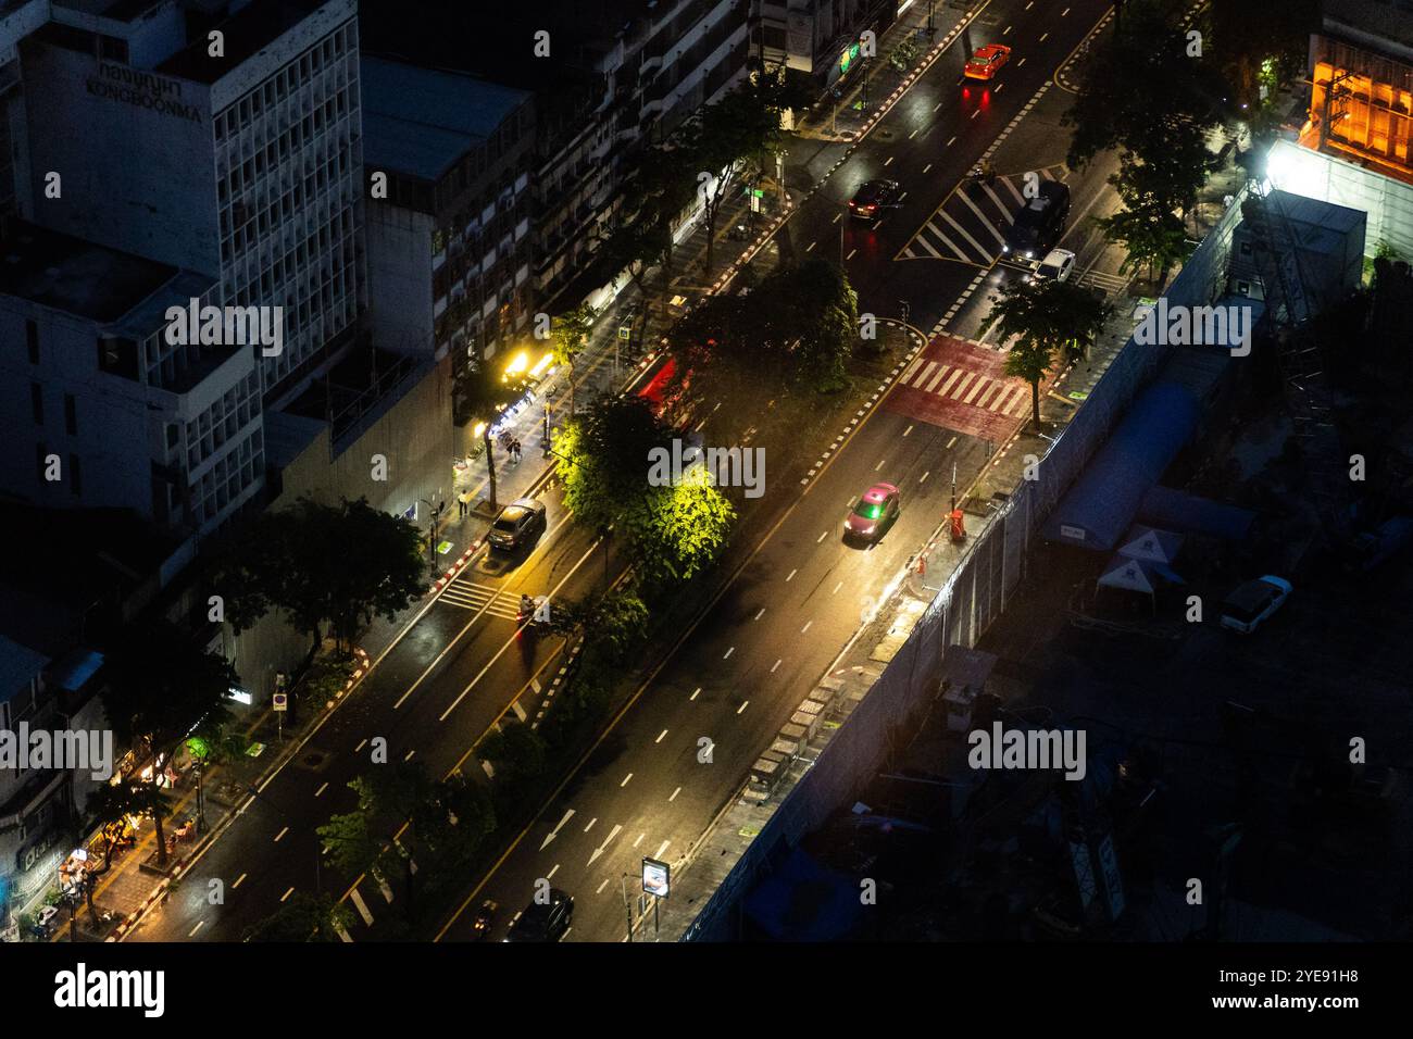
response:
<svg viewBox="0 0 1413 1039"><path fill-rule="evenodd" d="M226 715L225 698L236 671L189 632L167 619L127 632L106 657L105 708L119 739L151 762L147 810L157 830L157 865L167 867L165 814L158 787L177 745L202 720ZM143 748L143 751L138 751Z"/></svg>

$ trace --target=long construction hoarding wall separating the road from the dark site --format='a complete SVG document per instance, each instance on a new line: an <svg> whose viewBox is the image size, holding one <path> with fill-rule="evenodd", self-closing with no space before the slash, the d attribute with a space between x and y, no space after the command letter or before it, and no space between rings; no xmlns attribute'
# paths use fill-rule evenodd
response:
<svg viewBox="0 0 1413 1039"><path fill-rule="evenodd" d="M1170 305L1202 305L1225 290L1232 229L1239 221L1241 199L1236 199L1173 281L1167 291ZM770 862L853 800L883 765L889 748L913 731L913 720L920 718L940 691L944 647L975 646L1000 616L1026 573L1040 524L1167 353L1167 346L1143 346L1132 338L1125 344L1041 461L1037 479L1022 482L975 534L907 642L784 794L681 940L739 937L739 905L757 879L769 874Z"/></svg>

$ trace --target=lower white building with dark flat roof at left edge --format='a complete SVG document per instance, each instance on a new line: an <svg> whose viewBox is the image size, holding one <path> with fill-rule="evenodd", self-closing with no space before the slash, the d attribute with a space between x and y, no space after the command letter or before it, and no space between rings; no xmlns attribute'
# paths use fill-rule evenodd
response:
<svg viewBox="0 0 1413 1039"><path fill-rule="evenodd" d="M209 276L11 221L0 237L0 486L208 533L264 482L256 352L167 342Z"/></svg>

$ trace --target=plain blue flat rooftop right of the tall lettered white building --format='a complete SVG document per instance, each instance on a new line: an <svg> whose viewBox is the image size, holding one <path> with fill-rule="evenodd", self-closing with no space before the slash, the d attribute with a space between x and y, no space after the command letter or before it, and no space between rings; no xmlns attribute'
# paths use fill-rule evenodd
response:
<svg viewBox="0 0 1413 1039"><path fill-rule="evenodd" d="M363 163L437 181L530 99L461 72L362 58Z"/></svg>

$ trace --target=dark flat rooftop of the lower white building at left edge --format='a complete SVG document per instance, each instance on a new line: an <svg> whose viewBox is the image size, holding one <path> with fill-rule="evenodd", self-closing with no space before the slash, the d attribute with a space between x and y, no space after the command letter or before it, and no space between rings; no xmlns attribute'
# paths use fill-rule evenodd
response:
<svg viewBox="0 0 1413 1039"><path fill-rule="evenodd" d="M0 239L0 294L100 324L119 321L175 286L182 273L24 221L16 221Z"/></svg>

